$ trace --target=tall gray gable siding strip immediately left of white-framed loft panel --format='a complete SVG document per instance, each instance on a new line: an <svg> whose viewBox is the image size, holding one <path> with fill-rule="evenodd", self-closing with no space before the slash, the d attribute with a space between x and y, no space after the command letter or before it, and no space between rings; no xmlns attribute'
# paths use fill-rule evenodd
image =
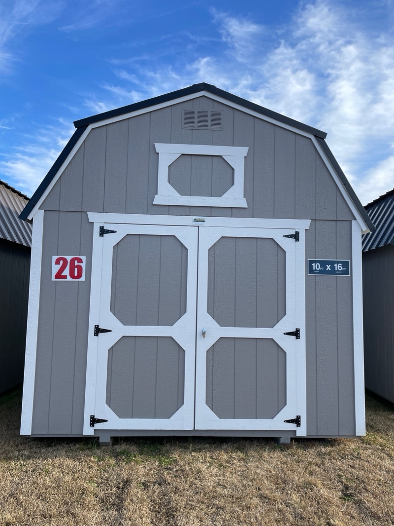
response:
<svg viewBox="0 0 394 526"><path fill-rule="evenodd" d="M148 212L150 115L148 113L128 119L127 214L147 214Z"/></svg>

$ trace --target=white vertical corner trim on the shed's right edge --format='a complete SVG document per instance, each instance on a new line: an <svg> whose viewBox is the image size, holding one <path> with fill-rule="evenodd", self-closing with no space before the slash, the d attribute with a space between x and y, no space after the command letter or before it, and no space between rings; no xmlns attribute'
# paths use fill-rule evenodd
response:
<svg viewBox="0 0 394 526"><path fill-rule="evenodd" d="M351 257L353 286L353 349L356 435L365 435L364 338L362 333L362 261L361 227L351 221Z"/></svg>

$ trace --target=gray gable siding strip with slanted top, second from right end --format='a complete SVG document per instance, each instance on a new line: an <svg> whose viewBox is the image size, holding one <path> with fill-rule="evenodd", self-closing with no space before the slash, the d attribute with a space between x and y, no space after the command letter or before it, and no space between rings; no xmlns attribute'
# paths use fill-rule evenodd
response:
<svg viewBox="0 0 394 526"><path fill-rule="evenodd" d="M316 157L316 219L337 218L337 186L324 164Z"/></svg>

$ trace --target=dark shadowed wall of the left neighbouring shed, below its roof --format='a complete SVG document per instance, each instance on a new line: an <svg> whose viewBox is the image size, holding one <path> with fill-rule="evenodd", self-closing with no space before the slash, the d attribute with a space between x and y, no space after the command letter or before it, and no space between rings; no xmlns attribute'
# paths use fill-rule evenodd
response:
<svg viewBox="0 0 394 526"><path fill-rule="evenodd" d="M0 239L0 393L23 381L30 248Z"/></svg>

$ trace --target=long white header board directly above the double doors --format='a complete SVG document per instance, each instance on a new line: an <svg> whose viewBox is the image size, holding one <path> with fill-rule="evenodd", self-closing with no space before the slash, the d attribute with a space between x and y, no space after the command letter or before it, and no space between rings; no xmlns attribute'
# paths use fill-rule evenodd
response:
<svg viewBox="0 0 394 526"><path fill-rule="evenodd" d="M91 223L135 225L178 225L211 227L284 228L307 230L310 219L260 219L249 217L163 216L155 214L111 214L88 212Z"/></svg>

